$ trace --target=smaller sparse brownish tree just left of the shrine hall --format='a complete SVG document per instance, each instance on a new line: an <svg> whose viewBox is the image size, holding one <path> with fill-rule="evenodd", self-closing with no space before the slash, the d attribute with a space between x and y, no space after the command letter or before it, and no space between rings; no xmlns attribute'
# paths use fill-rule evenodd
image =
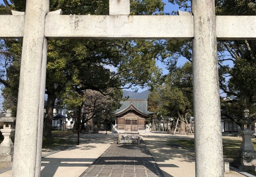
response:
<svg viewBox="0 0 256 177"><path fill-rule="evenodd" d="M80 131L80 125L85 123L89 123L88 126L92 131L93 118L97 117L100 120L107 117L108 114L120 107L122 100L122 90L120 89L108 89L106 93L88 89L82 90L81 93L69 94L64 100L67 109L70 110L68 117L74 121L74 133ZM80 100L81 95L83 96L82 100Z"/></svg>

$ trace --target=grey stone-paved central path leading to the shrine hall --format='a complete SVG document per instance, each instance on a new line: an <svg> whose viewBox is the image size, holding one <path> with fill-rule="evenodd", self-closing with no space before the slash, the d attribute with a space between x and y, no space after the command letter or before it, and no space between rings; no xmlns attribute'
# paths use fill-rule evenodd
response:
<svg viewBox="0 0 256 177"><path fill-rule="evenodd" d="M80 177L163 177L143 141L137 144L113 143Z"/></svg>

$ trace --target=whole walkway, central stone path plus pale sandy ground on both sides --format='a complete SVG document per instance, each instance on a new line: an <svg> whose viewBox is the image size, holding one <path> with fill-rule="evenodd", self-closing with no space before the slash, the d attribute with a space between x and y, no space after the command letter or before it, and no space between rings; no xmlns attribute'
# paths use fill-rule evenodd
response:
<svg viewBox="0 0 256 177"><path fill-rule="evenodd" d="M113 144L117 141L117 136L111 134L81 134L80 146L58 151L42 159L41 177L83 177L90 174L95 176L96 173L98 176L111 175L113 177L122 175L128 177L195 176L194 153L168 145L172 138L193 138L193 136L172 136L160 132L142 134L142 136L147 146L145 144L118 146ZM72 137L75 141L76 136L72 135L69 138ZM26 162L26 157L24 157L24 162ZM11 170L1 173L0 177L11 177ZM225 177L244 176L231 171L226 173Z"/></svg>

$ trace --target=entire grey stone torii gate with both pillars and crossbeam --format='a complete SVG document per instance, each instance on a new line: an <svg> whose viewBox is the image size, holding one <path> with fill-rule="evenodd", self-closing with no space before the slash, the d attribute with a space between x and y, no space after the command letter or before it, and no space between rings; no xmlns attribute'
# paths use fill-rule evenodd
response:
<svg viewBox="0 0 256 177"><path fill-rule="evenodd" d="M109 0L109 15L49 12L27 0L26 14L0 15L0 38L23 37L14 177L40 176L47 39L193 39L195 166L198 177L223 176L217 39L256 39L256 16L215 16L214 0L193 0L192 14L131 16L130 0Z"/></svg>

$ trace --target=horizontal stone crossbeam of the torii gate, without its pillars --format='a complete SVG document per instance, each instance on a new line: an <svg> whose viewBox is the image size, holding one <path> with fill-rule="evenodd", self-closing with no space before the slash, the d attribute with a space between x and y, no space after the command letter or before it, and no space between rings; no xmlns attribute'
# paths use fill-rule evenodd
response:
<svg viewBox="0 0 256 177"><path fill-rule="evenodd" d="M20 38L25 15L0 15L0 38ZM24 14L24 12L23 12ZM193 15L46 15L48 39L193 39ZM186 15L185 15L186 14ZM191 13L189 13L191 14ZM256 39L256 16L216 16L218 40Z"/></svg>

